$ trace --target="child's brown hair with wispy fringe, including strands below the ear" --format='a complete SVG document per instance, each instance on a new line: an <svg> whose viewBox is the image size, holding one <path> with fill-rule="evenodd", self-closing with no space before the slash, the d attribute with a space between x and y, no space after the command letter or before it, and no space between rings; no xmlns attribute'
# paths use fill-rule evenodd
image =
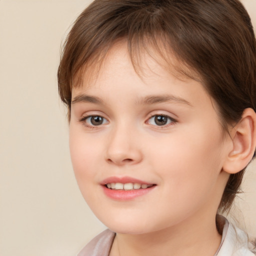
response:
<svg viewBox="0 0 256 256"><path fill-rule="evenodd" d="M224 128L239 121L245 108L255 111L256 42L238 0L94 0L74 22L58 68L59 95L68 115L74 77L88 62L97 62L118 39L127 41L134 59L148 38L165 59L159 38L183 66L196 71ZM243 173L230 175L219 211L231 207Z"/></svg>

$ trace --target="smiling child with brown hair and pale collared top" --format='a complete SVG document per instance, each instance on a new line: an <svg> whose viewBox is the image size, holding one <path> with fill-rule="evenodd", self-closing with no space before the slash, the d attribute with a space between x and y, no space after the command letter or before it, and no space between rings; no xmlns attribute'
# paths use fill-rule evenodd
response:
<svg viewBox="0 0 256 256"><path fill-rule="evenodd" d="M219 215L256 146L256 42L238 0L95 0L58 69L81 193L109 228L79 256L251 256Z"/></svg>

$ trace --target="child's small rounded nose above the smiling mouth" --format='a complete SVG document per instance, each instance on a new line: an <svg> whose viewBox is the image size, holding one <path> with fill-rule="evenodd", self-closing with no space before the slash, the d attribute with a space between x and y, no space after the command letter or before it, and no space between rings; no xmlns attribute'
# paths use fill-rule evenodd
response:
<svg viewBox="0 0 256 256"><path fill-rule="evenodd" d="M116 165L135 164L142 160L138 134L128 127L111 131L106 146L106 161Z"/></svg>

